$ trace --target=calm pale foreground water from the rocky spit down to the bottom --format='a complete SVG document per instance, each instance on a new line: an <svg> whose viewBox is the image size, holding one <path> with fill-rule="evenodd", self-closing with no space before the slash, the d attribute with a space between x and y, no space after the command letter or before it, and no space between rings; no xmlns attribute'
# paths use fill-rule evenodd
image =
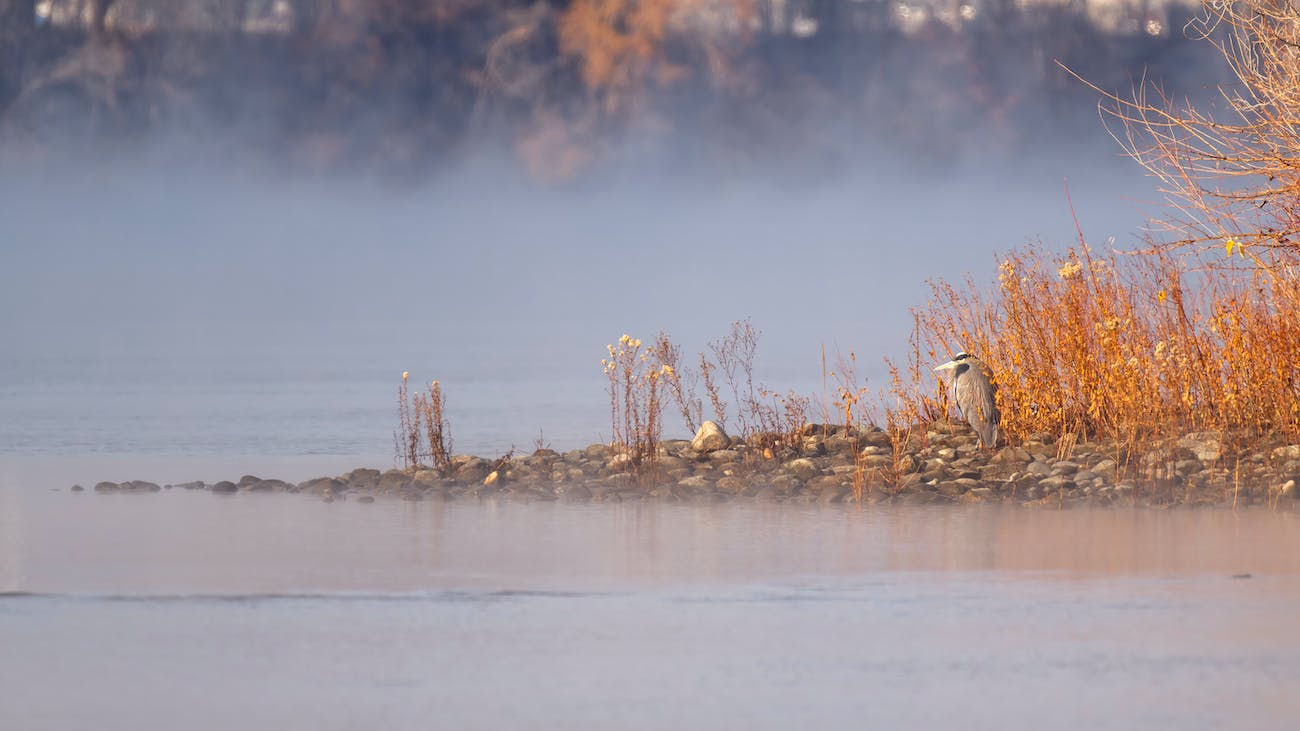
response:
<svg viewBox="0 0 1300 731"><path fill-rule="evenodd" d="M1295 514L101 496L4 466L0 728L1300 714Z"/></svg>

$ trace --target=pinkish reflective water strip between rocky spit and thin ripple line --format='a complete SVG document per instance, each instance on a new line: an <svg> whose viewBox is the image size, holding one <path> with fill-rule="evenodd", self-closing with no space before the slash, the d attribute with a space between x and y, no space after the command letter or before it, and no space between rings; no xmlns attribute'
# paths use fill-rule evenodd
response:
<svg viewBox="0 0 1300 731"><path fill-rule="evenodd" d="M1264 510L507 501L324 503L0 492L0 587L49 593L586 591L876 572L1300 574Z"/></svg>

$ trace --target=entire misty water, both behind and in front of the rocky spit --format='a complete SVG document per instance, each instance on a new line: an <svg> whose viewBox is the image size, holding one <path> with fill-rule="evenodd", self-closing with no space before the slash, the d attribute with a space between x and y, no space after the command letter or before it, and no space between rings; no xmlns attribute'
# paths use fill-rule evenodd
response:
<svg viewBox="0 0 1300 731"><path fill-rule="evenodd" d="M1089 241L1139 228L1140 172L1080 165L0 179L0 728L1284 724L1292 514L69 492L387 467L403 371L456 451L584 446L624 332L692 354L753 316L759 381L822 393L826 346L879 386L926 278L1072 241L1063 176Z"/></svg>

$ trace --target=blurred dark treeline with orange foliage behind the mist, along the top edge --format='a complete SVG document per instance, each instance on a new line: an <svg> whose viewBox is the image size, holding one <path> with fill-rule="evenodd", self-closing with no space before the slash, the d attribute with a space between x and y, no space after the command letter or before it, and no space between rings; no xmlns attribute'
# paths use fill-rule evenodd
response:
<svg viewBox="0 0 1300 731"><path fill-rule="evenodd" d="M0 0L0 161L169 153L540 179L629 159L941 164L1096 133L1095 92L1219 72L1195 8L1014 0Z"/></svg>

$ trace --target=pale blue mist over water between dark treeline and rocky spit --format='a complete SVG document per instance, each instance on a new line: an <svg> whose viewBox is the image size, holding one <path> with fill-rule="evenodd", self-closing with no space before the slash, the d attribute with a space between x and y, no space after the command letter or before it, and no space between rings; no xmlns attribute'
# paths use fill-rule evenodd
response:
<svg viewBox="0 0 1300 731"><path fill-rule="evenodd" d="M606 343L664 329L693 358L745 317L759 381L820 394L826 346L879 388L928 278L1075 238L1066 178L1089 242L1132 241L1149 182L1093 155L798 186L8 174L0 451L390 454L403 371L441 380L460 451L581 446Z"/></svg>

